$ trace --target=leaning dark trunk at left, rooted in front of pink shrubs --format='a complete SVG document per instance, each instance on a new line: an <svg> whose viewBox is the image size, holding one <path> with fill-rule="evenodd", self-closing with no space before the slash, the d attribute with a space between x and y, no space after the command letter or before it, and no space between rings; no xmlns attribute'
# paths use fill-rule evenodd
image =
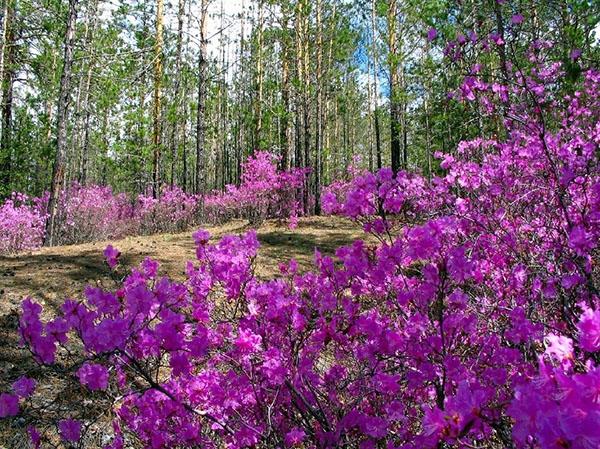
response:
<svg viewBox="0 0 600 449"><path fill-rule="evenodd" d="M69 98L71 90L71 71L73 67L73 47L75 40L75 22L77 21L77 6L79 0L69 0L69 15L64 39L63 70L60 77L58 94L58 113L56 123L56 158L52 170L50 200L48 202L48 220L46 222L45 246L52 246L56 241L58 202L60 189L65 176L67 153L67 117L69 113Z"/></svg>

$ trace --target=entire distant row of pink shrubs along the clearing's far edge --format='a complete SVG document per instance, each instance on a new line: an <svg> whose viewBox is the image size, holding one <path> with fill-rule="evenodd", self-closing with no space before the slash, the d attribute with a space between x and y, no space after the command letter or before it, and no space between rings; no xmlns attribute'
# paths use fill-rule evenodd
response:
<svg viewBox="0 0 600 449"><path fill-rule="evenodd" d="M203 197L177 186L158 198L150 192L131 200L107 186L72 184L61 192L58 206L59 245L117 239L127 235L182 231L194 223L221 223L244 218L257 224L267 218L289 220L301 213L298 199L306 170L281 171L271 153L257 152L243 164L240 186ZM42 245L48 194L28 198L15 193L0 206L0 253L17 253Z"/></svg>

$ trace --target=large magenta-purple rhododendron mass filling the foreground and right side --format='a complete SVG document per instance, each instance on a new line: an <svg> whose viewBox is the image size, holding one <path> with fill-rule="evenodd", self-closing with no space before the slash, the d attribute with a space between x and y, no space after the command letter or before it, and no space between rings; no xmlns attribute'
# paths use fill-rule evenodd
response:
<svg viewBox="0 0 600 449"><path fill-rule="evenodd" d="M26 299L21 339L110 414L107 448L598 448L600 75L533 89L559 76L517 77L506 138L438 154L443 177L382 169L326 192L377 245L261 280L253 231L200 230L184 281L146 259L49 321ZM90 445L89 411L40 425L36 395L16 379L0 416L26 417L36 447Z"/></svg>

